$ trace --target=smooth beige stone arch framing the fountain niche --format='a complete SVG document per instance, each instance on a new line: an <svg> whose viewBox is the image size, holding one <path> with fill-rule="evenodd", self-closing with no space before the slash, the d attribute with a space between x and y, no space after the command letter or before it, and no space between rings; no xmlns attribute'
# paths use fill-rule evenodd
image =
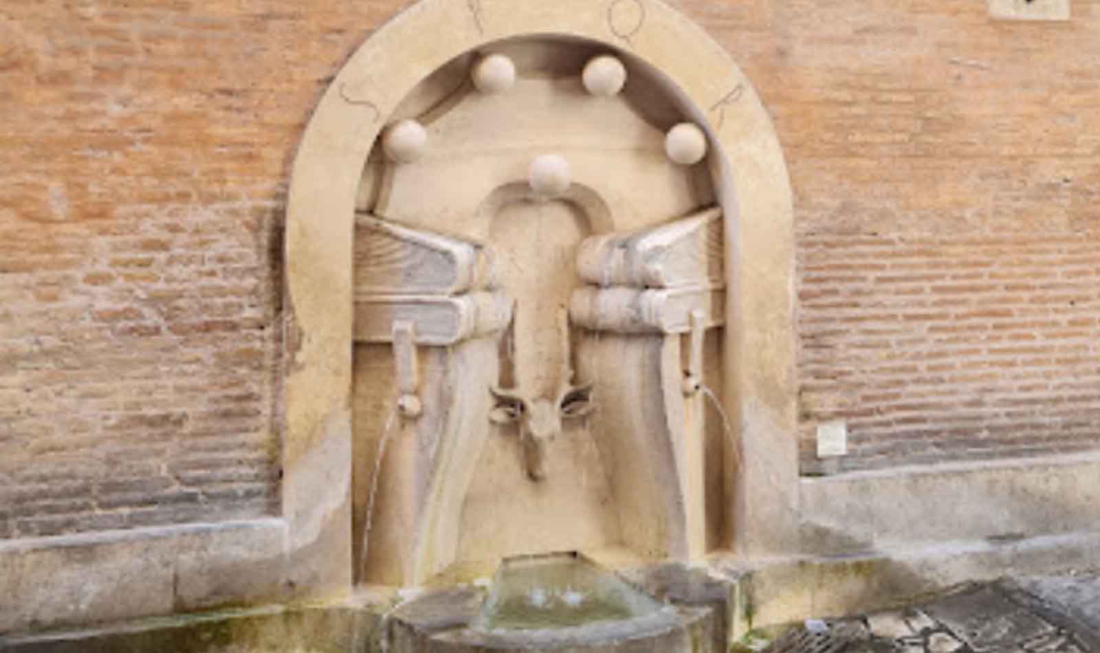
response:
<svg viewBox="0 0 1100 653"><path fill-rule="evenodd" d="M792 200L779 141L751 84L701 29L658 0L424 0L377 30L319 102L294 163L286 218L283 512L290 580L352 579L352 234L367 155L398 104L448 62L534 34L645 62L715 144L728 297L723 402L740 463L726 502L741 554L796 549Z"/></svg>

